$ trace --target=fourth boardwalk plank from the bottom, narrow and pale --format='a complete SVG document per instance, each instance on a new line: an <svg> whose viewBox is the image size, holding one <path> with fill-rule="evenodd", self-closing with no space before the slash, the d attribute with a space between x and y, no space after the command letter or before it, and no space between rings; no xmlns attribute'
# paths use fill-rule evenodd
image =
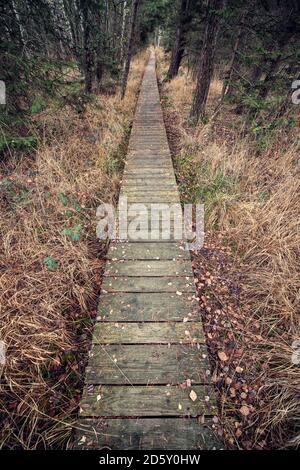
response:
<svg viewBox="0 0 300 470"><path fill-rule="evenodd" d="M203 344L204 333L200 322L98 322L94 328L93 342L95 344Z"/></svg>

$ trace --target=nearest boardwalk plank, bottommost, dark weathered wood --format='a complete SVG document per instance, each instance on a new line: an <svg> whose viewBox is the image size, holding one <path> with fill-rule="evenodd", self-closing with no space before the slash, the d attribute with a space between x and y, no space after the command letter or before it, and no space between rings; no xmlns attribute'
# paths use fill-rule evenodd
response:
<svg viewBox="0 0 300 470"><path fill-rule="evenodd" d="M112 450L223 449L210 418L89 419L78 422L76 448Z"/></svg>

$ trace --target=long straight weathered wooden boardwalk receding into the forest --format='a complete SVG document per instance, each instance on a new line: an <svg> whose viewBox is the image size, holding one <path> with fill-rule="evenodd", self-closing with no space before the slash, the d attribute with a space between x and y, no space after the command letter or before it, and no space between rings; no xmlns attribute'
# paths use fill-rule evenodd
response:
<svg viewBox="0 0 300 470"><path fill-rule="evenodd" d="M178 203L152 53L133 123L121 196ZM158 217L159 218L159 217ZM159 231L114 242L80 404L76 446L220 448L217 407L189 252Z"/></svg>

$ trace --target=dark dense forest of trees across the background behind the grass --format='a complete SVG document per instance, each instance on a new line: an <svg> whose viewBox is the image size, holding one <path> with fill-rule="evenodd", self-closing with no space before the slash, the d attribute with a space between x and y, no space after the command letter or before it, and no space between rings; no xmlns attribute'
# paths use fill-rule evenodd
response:
<svg viewBox="0 0 300 470"><path fill-rule="evenodd" d="M297 0L11 0L1 18L8 130L10 117L37 112L52 97L81 112L103 87L121 84L124 94L132 54L150 42L171 51L167 79L182 60L197 78L195 123L206 117L215 69L224 82L219 105L234 101L258 127L264 110L277 125L299 74Z"/></svg>

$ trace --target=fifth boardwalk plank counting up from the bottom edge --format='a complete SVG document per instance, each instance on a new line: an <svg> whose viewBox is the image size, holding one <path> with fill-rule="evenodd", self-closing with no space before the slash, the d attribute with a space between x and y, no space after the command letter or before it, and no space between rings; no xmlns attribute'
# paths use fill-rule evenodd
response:
<svg viewBox="0 0 300 470"><path fill-rule="evenodd" d="M105 321L196 321L200 320L195 296L176 293L102 294L98 320Z"/></svg>

